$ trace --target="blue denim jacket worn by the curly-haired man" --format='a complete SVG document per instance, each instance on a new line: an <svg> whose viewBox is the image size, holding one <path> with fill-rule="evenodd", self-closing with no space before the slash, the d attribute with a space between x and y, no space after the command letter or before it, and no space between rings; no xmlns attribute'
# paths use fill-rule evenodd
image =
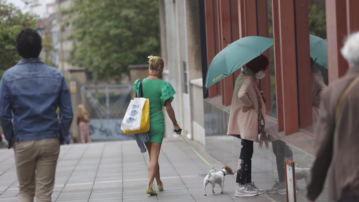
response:
<svg viewBox="0 0 359 202"><path fill-rule="evenodd" d="M6 70L0 82L0 122L8 148L11 141L54 137L63 144L72 119L69 88L59 70L38 58L20 60Z"/></svg>

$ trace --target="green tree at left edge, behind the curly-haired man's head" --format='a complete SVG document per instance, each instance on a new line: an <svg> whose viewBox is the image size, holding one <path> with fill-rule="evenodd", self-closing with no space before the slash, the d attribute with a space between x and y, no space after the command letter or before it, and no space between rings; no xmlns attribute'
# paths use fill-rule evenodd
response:
<svg viewBox="0 0 359 202"><path fill-rule="evenodd" d="M36 23L36 15L22 13L14 4L0 0L0 76L21 59L15 49L18 33L24 27L35 28Z"/></svg>

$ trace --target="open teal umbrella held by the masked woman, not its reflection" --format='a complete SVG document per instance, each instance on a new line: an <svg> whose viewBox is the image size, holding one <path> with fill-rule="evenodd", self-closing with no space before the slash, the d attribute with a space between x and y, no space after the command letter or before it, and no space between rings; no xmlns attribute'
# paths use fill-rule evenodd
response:
<svg viewBox="0 0 359 202"><path fill-rule="evenodd" d="M243 65L256 58L273 45L271 38L247 36L241 38L220 51L208 67L205 87L228 77Z"/></svg>

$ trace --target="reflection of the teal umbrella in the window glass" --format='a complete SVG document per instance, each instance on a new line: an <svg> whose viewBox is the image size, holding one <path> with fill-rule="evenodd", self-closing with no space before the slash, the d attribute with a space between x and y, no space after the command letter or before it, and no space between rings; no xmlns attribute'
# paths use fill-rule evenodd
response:
<svg viewBox="0 0 359 202"><path fill-rule="evenodd" d="M322 65L324 68L328 69L328 54L327 54L327 41L314 36L309 35L309 43L311 46L311 57L318 64Z"/></svg>

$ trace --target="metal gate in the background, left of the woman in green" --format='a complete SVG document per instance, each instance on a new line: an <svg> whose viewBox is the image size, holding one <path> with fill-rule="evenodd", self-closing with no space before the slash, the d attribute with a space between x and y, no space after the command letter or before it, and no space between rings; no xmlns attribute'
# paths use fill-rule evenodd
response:
<svg viewBox="0 0 359 202"><path fill-rule="evenodd" d="M131 101L131 89L130 85L81 87L81 103L91 116L91 139L132 139L121 131L122 119Z"/></svg>

